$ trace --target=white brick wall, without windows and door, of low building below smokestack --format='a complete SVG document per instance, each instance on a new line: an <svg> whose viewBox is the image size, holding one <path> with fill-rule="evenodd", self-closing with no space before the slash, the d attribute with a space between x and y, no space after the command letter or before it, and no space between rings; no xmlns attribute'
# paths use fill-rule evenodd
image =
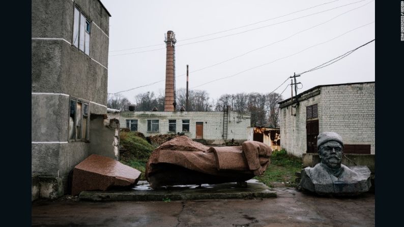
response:
<svg viewBox="0 0 404 227"><path fill-rule="evenodd" d="M204 122L205 140L222 140L223 112L121 112L120 127L126 127L127 119L137 119L137 130L145 136L168 134L168 120L177 120L176 133L182 132L182 120L189 120L189 131L185 135L191 139L196 138L196 122ZM147 120L159 119L159 132L147 132ZM247 140L250 126L250 114L243 115L229 112L227 124L227 140ZM222 143L220 143L222 144Z"/></svg>

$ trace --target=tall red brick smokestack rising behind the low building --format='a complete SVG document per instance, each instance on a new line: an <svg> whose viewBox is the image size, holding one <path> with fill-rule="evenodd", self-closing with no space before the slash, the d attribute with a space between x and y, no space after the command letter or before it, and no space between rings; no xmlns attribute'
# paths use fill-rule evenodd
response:
<svg viewBox="0 0 404 227"><path fill-rule="evenodd" d="M164 111L176 110L176 35L173 31L167 31L165 35L165 46L167 48L165 63L165 98Z"/></svg>

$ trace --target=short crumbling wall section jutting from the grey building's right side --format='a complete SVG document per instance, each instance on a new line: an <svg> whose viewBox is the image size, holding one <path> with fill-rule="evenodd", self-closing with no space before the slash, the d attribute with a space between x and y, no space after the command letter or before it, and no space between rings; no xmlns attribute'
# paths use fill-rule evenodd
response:
<svg viewBox="0 0 404 227"><path fill-rule="evenodd" d="M103 115L92 115L90 126L90 154L98 154L113 159L119 159L118 149L116 147L116 128L119 124L114 124L110 120L104 119Z"/></svg>

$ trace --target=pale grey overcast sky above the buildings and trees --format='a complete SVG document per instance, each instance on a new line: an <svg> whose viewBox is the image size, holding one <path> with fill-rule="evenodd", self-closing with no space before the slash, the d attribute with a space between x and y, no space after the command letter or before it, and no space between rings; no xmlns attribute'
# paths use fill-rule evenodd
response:
<svg viewBox="0 0 404 227"><path fill-rule="evenodd" d="M112 15L108 93L161 81L122 92L130 101L141 92L164 94L167 30L177 38L177 88L186 87L189 64L189 87L215 100L224 93L271 92L293 73L374 39L373 0L101 2ZM374 81L375 42L298 77L298 93L322 84ZM282 95L291 97L290 86Z"/></svg>

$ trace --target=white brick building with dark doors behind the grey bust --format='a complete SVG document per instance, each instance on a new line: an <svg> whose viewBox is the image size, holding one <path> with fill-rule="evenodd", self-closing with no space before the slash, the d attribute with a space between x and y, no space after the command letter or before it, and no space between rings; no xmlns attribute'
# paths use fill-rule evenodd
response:
<svg viewBox="0 0 404 227"><path fill-rule="evenodd" d="M344 153L375 153L374 82L319 85L298 94L296 107L296 99L293 107L291 99L279 105L280 146L288 153L317 153L322 132L341 135Z"/></svg>

